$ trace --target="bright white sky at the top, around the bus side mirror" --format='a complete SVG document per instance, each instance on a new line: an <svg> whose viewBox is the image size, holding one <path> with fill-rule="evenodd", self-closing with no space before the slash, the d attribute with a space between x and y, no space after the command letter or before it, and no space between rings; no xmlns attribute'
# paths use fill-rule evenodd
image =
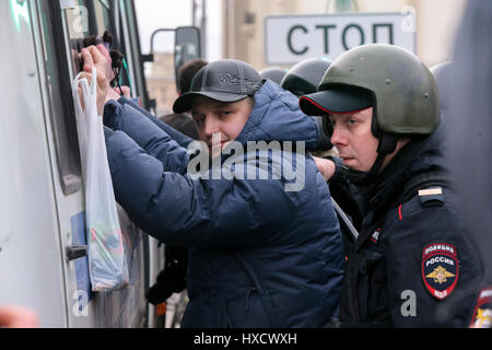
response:
<svg viewBox="0 0 492 350"><path fill-rule="evenodd" d="M191 0L136 0L139 21L140 44L142 52L150 51L150 37L157 28L175 28L192 24ZM207 54L206 59L221 58L221 1L207 1ZM155 36L155 50L172 51L174 47L173 34L159 34Z"/></svg>

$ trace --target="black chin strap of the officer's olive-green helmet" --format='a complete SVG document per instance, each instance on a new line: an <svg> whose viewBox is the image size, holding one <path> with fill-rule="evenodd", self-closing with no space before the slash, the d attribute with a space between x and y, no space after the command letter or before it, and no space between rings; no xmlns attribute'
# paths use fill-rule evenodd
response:
<svg viewBox="0 0 492 350"><path fill-rule="evenodd" d="M386 155L391 154L396 150L398 139L395 135L387 132L379 132L379 144L377 147L377 158L368 172L349 170L349 180L355 186L367 185L375 179L380 172L380 167L385 162Z"/></svg>

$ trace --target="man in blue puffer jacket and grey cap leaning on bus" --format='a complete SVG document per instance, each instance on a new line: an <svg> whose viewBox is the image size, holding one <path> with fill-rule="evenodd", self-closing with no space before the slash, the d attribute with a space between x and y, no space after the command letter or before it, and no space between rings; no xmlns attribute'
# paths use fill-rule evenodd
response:
<svg viewBox="0 0 492 350"><path fill-rule="evenodd" d="M329 189L306 152L319 126L294 95L237 60L202 68L174 109L191 110L202 151L222 151L210 168L203 152L185 148L191 140L129 100L108 101L104 124L117 201L150 235L190 248L181 326L329 326L343 249Z"/></svg>

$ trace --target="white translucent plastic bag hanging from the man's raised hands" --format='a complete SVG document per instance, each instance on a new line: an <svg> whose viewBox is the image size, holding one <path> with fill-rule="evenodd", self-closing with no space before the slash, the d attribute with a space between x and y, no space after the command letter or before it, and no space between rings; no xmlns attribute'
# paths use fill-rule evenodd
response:
<svg viewBox="0 0 492 350"><path fill-rule="evenodd" d="M85 187L85 233L92 290L118 290L129 282L128 265L106 155L103 118L97 115L97 71L92 82L77 75L72 83L77 131ZM84 109L79 96L82 88Z"/></svg>

